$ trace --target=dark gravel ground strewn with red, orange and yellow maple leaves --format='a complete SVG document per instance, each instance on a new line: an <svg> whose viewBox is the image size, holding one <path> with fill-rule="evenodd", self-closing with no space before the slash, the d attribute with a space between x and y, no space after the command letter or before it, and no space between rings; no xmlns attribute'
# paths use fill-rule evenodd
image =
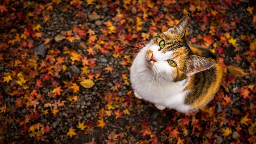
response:
<svg viewBox="0 0 256 144"><path fill-rule="evenodd" d="M255 143L255 1L0 1L0 142ZM189 15L221 88L197 112L136 99L143 43ZM127 47L129 46L129 47Z"/></svg>

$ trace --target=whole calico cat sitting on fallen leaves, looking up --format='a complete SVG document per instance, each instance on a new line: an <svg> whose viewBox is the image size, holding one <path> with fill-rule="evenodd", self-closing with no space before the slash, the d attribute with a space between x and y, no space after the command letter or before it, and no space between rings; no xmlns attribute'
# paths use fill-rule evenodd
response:
<svg viewBox="0 0 256 144"><path fill-rule="evenodd" d="M131 66L134 95L159 110L187 113L204 107L219 89L222 68L206 48L187 45L189 17L155 36L137 54Z"/></svg>

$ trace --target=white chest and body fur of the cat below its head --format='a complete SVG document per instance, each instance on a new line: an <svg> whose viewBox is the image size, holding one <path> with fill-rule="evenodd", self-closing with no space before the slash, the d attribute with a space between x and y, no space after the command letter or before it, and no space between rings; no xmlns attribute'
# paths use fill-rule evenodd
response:
<svg viewBox="0 0 256 144"><path fill-rule="evenodd" d="M190 106L184 104L188 91L183 92L187 80L177 83L167 81L161 74L148 68L143 48L131 66L131 83L137 94L157 106L158 109L173 108L183 113L189 111Z"/></svg>

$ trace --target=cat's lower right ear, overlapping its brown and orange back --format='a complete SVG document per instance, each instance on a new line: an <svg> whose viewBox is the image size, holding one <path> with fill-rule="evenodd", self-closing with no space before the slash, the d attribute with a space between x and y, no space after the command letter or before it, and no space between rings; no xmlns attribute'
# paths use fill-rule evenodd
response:
<svg viewBox="0 0 256 144"><path fill-rule="evenodd" d="M189 55L189 59L189 71L187 73L188 76L212 68L212 66L215 65L212 60L197 55Z"/></svg>

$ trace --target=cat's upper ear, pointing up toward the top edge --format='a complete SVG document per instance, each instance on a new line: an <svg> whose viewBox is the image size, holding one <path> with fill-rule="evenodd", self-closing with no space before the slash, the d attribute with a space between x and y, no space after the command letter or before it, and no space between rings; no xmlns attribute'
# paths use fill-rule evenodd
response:
<svg viewBox="0 0 256 144"><path fill-rule="evenodd" d="M165 33L177 33L181 38L185 36L187 24L189 23L189 16L183 17L178 24L173 28L169 28Z"/></svg>

